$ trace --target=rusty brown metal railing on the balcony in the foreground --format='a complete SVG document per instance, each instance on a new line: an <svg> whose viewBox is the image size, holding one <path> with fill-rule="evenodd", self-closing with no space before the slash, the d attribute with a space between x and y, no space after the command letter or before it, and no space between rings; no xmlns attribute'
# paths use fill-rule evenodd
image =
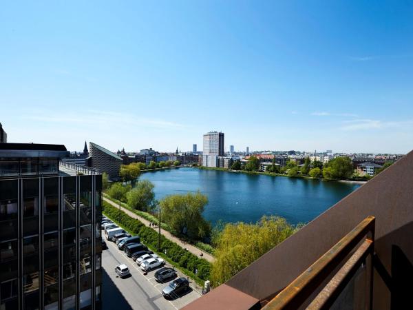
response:
<svg viewBox="0 0 413 310"><path fill-rule="evenodd" d="M359 267L366 262L370 255L370 286L368 287L368 305L372 309L372 276L374 255L374 216L368 216L359 225L354 227L344 238L339 240L330 250L319 258L298 278L280 291L273 300L268 302L264 309L300 309L304 303L308 304L308 298L319 287L329 280L327 285L308 304L307 309L329 309L335 302L341 291L352 279ZM357 249L355 249L357 247ZM354 251L355 249L355 251ZM351 254L350 258L348 255ZM344 262L344 264L343 264ZM331 278L332 272L341 268Z"/></svg>

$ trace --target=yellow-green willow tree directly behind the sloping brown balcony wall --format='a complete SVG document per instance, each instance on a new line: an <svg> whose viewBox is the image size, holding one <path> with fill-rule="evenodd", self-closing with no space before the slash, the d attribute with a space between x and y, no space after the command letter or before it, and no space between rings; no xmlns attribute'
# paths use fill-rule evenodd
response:
<svg viewBox="0 0 413 310"><path fill-rule="evenodd" d="M263 216L256 224L229 223L215 240L211 282L216 287L291 236L297 228L284 218Z"/></svg>

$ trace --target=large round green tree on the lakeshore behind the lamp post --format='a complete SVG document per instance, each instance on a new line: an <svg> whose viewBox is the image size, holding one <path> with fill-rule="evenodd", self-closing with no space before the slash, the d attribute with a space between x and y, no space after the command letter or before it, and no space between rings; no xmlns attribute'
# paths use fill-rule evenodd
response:
<svg viewBox="0 0 413 310"><path fill-rule="evenodd" d="M209 237L211 224L202 217L207 203L207 196L200 192L166 196L159 203L162 221L189 238Z"/></svg>

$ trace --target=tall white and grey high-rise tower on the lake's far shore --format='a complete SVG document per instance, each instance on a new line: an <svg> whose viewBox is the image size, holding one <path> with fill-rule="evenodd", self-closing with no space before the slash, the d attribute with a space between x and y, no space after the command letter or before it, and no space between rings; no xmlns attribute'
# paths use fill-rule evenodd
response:
<svg viewBox="0 0 413 310"><path fill-rule="evenodd" d="M204 134L203 165L219 167L218 156L224 156L224 133L208 132Z"/></svg>

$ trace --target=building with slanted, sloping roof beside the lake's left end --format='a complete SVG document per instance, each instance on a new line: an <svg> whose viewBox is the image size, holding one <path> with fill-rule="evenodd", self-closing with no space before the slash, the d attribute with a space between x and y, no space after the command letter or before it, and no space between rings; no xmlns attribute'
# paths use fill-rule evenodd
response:
<svg viewBox="0 0 413 310"><path fill-rule="evenodd" d="M89 143L89 150L89 167L106 172L109 175L109 179L117 180L119 178L120 165L123 163L122 158L105 149L105 147L92 142Z"/></svg>

